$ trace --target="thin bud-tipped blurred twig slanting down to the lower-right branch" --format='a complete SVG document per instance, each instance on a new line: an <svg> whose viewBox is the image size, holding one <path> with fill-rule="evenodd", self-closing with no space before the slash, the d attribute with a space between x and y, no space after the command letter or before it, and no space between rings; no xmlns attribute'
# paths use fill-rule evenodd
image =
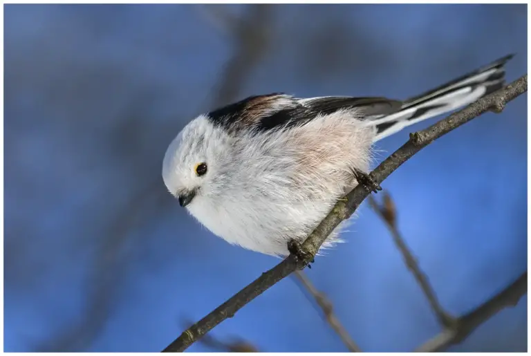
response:
<svg viewBox="0 0 531 356"><path fill-rule="evenodd" d="M369 196L369 205L371 205L374 211L380 216L380 218L382 218L382 220L389 228L389 231L393 236L393 241L395 242L396 247L398 247L398 250L402 254L402 257L404 257L404 262L406 263L407 268L411 271L413 277L415 277L417 283L420 285L420 288L428 299L431 309L434 310L439 323L445 327L452 326L454 324L454 318L451 317L447 312L445 312L445 310L443 310L443 307L440 306L435 292L429 284L428 277L426 276L426 274L424 274L424 272L422 272L422 270L420 270L420 267L418 266L415 257L409 251L409 248L407 247L404 238L402 238L402 235L398 231L398 226L396 223L396 208L395 204L393 203L393 200L391 200L391 196L389 196L389 194L384 191L382 205L379 205L373 196Z"/></svg>

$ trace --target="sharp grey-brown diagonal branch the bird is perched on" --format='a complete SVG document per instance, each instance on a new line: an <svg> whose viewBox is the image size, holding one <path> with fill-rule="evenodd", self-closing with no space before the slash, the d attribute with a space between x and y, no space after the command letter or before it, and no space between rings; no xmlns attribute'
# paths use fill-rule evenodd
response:
<svg viewBox="0 0 531 356"><path fill-rule="evenodd" d="M411 133L409 140L396 150L391 156L380 163L366 180L371 181L374 185L380 184L393 171L398 169L404 162L413 157L418 151L426 147L434 140L457 129L470 120L477 118L487 111L499 113L505 107L507 102L525 93L528 90L528 75L523 75L511 84L501 88L490 95L482 97L469 106L456 111L447 118L436 122L425 130ZM268 290L272 285L281 281L295 270L303 269L310 261L326 240L328 235L346 218L349 218L353 212L360 206L363 200L369 196L371 189L364 185L357 185L346 199L341 199L332 208L330 213L319 223L315 230L306 238L301 245L301 255L304 259L296 258L293 255L288 256L274 268L261 274L261 276L247 285L243 290L234 294L233 297L218 306L203 319L185 330L177 339L175 339L163 352L180 352L186 350L190 345L203 337L209 330L243 308L245 304Z"/></svg>

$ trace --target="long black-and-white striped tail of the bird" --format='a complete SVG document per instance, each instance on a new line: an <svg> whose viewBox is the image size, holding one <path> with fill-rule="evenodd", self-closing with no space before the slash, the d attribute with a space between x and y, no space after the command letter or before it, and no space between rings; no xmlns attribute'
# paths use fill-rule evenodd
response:
<svg viewBox="0 0 531 356"><path fill-rule="evenodd" d="M374 142L416 122L466 106L483 95L497 91L505 83L503 66L513 56L507 55L427 93L412 97L402 104L400 111L368 121L367 124L377 129Z"/></svg>

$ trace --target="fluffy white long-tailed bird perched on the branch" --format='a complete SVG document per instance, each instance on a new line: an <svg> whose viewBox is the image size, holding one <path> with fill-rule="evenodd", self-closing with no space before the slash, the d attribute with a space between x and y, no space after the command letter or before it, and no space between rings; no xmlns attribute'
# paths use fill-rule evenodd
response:
<svg viewBox="0 0 531 356"><path fill-rule="evenodd" d="M409 100L386 97L246 97L198 115L171 140L165 187L232 245L293 253L374 160L373 144L505 85L507 55ZM322 250L342 242L340 224Z"/></svg>

